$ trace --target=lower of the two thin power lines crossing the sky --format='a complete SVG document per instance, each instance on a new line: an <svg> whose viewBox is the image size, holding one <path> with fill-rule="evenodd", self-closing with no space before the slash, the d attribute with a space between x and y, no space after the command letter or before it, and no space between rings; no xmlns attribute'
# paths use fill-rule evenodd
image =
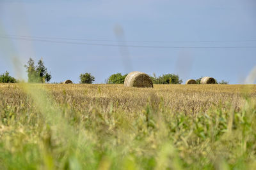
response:
<svg viewBox="0 0 256 170"><path fill-rule="evenodd" d="M8 39L18 39L24 41L38 41L47 43L63 43L72 45L92 45L92 46L115 46L115 47L132 47L132 48L193 48L193 49L231 49L231 48L256 48L256 46L149 46L149 45L113 45L113 44L102 44L102 43L82 43L82 42L72 42L72 41L54 41L49 39L35 39L35 38L18 38L18 37L8 37L0 36L0 38Z"/></svg>

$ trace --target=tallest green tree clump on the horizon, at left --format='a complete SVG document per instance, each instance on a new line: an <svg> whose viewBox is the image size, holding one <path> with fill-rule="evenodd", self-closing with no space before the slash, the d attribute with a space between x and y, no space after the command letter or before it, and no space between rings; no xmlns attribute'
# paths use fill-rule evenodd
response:
<svg viewBox="0 0 256 170"><path fill-rule="evenodd" d="M42 59L38 60L37 66L35 66L35 61L29 58L28 65L25 65L28 73L29 83L45 83L45 81L51 80L51 74L47 72L47 68L44 66Z"/></svg>

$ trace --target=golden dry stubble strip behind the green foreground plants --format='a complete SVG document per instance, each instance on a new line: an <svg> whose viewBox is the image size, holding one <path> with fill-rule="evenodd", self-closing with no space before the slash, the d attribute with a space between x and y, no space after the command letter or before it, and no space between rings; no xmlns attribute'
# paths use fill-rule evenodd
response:
<svg viewBox="0 0 256 170"><path fill-rule="evenodd" d="M232 102L239 110L244 101L244 89L250 89L250 97L256 97L255 85L154 85L154 89L137 89L123 85L43 85L51 92L57 103L73 105L76 111L85 111L93 106L108 108L113 104L115 109L121 109L132 114L140 111L154 97L162 101L164 107L172 111L199 113L211 106ZM15 89L14 89L15 88ZM15 106L20 97L26 97L15 84L1 85L1 96L5 103ZM12 102L9 102L12 101ZM158 102L159 102L158 101Z"/></svg>

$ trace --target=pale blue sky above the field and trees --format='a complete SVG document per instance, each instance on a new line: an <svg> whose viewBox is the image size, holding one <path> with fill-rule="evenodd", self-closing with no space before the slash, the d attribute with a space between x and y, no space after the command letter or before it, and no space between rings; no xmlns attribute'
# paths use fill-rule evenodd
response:
<svg viewBox="0 0 256 170"><path fill-rule="evenodd" d="M255 0L0 0L0 74L26 80L32 57L51 82L141 71L243 83L256 66L255 9Z"/></svg>

